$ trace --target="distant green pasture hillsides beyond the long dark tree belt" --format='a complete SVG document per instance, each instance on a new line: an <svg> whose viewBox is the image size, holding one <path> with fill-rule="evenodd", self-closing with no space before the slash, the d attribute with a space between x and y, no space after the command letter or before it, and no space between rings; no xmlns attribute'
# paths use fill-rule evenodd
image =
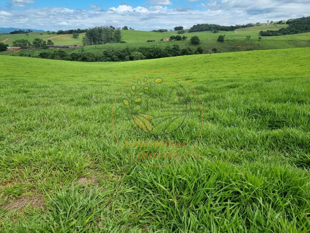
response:
<svg viewBox="0 0 310 233"><path fill-rule="evenodd" d="M192 48L194 51L197 47L201 47L204 50L204 53L208 53L212 48L216 48L219 53L223 52L237 52L245 50L260 50L260 49L281 49L281 48L299 48L299 47L310 47L310 33L286 35L286 36L276 36L276 37L263 37L259 40L259 32L262 30L278 30L288 25L261 25L249 28L241 28L237 30L237 33L234 31L219 31L218 33L213 33L211 31L204 32L192 32L189 33L188 30L185 30L184 34L188 37L187 40L183 41L170 41L162 42L160 39L164 37L170 37L171 35L178 35L176 31L168 31L164 33L157 32L148 32L148 31L137 31L137 30L122 30L122 40L127 43L110 43L105 45L92 45L87 46L86 48L72 50L65 49L66 53L72 52L89 52L94 54L101 54L104 50L109 48L139 48L139 47L152 47L158 46L164 48L166 46L172 47L174 44L179 45L180 49L183 48ZM42 35L40 35L42 34ZM220 34L225 35L225 40L223 43L217 42L217 38ZM80 34L79 38L74 39L72 35L61 35L57 38L52 38L51 40L55 44L78 44L82 45L82 37L84 33ZM46 32L38 33L33 32L27 37L24 34L15 34L15 35L0 35L0 41L7 39L6 43L9 45L16 39L28 39L32 41L35 38L40 39L49 39L57 35L48 35ZM200 38L200 44L198 46L192 45L189 39L192 36L198 36ZM250 39L246 38L250 36ZM146 42L147 40L155 40L155 42ZM30 56L30 52L33 56L37 56L38 53L41 53L42 50L36 51L21 51L15 53L13 51L5 51L0 54L6 55L23 55Z"/></svg>

